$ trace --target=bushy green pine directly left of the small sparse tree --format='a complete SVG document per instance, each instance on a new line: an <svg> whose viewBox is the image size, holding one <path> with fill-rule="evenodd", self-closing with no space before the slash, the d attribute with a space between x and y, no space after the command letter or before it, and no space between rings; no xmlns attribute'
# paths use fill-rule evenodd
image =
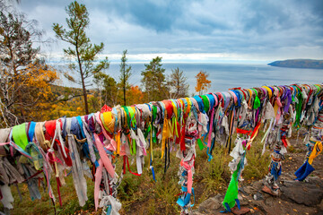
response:
<svg viewBox="0 0 323 215"><path fill-rule="evenodd" d="M166 95L165 69L162 68L162 57L156 56L149 64L144 64L141 82L148 100L162 100Z"/></svg>

